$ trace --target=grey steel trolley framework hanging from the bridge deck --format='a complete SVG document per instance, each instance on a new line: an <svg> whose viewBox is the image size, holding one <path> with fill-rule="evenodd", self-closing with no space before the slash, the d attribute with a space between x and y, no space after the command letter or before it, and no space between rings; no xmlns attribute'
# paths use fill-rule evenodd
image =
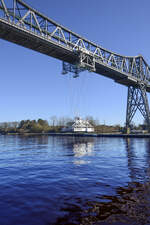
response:
<svg viewBox="0 0 150 225"><path fill-rule="evenodd" d="M88 70L89 72L95 71L95 59L93 55L89 51L85 49L78 49L76 51L78 60L75 62L75 64L70 64L67 62L62 63L62 74L65 75L67 73L73 73L73 78L79 77L79 73Z"/></svg>

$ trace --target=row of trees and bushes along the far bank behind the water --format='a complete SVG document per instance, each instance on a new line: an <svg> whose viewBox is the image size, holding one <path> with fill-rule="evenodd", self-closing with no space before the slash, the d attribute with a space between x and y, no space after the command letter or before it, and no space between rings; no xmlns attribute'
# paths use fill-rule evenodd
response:
<svg viewBox="0 0 150 225"><path fill-rule="evenodd" d="M92 116L87 116L84 119L88 120L91 125L94 126L97 133L115 133L123 132L125 127L121 125L109 126L101 124L98 119ZM21 120L20 122L3 122L0 123L1 133L51 133L61 132L63 127L71 126L74 123L74 119L69 117L50 117L50 120ZM142 125L138 127L134 126L134 129L140 129Z"/></svg>

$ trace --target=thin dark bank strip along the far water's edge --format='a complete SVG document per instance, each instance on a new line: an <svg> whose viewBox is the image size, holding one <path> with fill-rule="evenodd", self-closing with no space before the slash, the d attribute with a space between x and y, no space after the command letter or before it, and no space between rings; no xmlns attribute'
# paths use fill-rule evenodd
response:
<svg viewBox="0 0 150 225"><path fill-rule="evenodd" d="M150 138L149 134L113 134L113 133L2 133L2 135L48 135L48 136L74 136L74 137L111 137L111 138Z"/></svg>

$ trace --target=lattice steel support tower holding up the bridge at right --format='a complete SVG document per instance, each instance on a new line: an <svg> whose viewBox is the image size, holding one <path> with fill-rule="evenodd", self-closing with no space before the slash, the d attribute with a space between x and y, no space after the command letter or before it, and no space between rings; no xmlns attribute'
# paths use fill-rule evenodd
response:
<svg viewBox="0 0 150 225"><path fill-rule="evenodd" d="M139 84L138 88L128 87L128 98L127 98L127 112L126 112L126 126L131 126L131 121L139 110L150 128L150 111L148 105L148 99L146 94L146 87L143 83Z"/></svg>

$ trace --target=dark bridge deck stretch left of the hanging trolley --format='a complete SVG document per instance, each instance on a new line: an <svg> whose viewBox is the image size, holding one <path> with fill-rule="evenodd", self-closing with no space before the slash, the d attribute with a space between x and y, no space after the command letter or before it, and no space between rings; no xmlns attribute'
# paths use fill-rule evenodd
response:
<svg viewBox="0 0 150 225"><path fill-rule="evenodd" d="M17 29L15 26L10 26L1 21L0 38L69 63L73 63L76 60L76 56L64 46L47 41L38 35Z"/></svg>

